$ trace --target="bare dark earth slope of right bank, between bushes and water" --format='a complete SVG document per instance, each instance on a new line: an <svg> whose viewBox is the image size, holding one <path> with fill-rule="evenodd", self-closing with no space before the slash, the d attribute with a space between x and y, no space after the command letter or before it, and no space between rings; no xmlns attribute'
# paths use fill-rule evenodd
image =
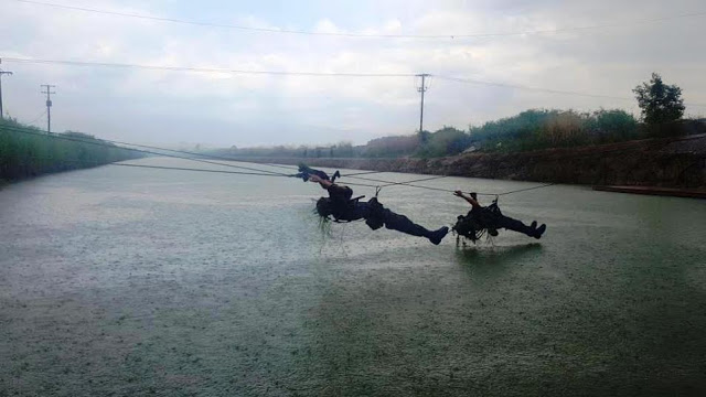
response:
<svg viewBox="0 0 706 397"><path fill-rule="evenodd" d="M516 153L438 159L247 158L263 163L347 168L584 185L706 190L706 135Z"/></svg>

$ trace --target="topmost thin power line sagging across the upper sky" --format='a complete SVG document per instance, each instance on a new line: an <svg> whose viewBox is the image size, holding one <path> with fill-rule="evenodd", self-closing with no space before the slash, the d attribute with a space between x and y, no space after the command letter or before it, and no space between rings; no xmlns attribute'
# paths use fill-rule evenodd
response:
<svg viewBox="0 0 706 397"><path fill-rule="evenodd" d="M117 12L117 11L106 11L98 10L85 7L75 7L75 6L64 6L56 4L43 1L34 1L34 0L15 0L22 3L35 4L35 6L44 6L52 7L56 9L64 10L73 10L73 11L83 11L106 15L115 15L115 17L124 17L124 18L136 18L143 19L150 21L158 22L170 22L170 23L180 23L180 24L190 24L197 26L211 26L211 28L225 28L225 29L235 29L242 31L250 31L250 32L260 32L260 33L280 33L280 34L302 34L302 35L311 35L311 36L334 36L334 37L361 37L361 39L483 39L483 37L503 37L503 36L521 36L521 35L534 35L534 34L547 34L547 33L564 33L564 32L579 32L579 31L589 31L597 29L607 29L607 28L623 28L627 25L634 24L644 24L644 23L659 23L659 22L667 22L677 19L684 18L697 18L706 15L706 11L699 12L691 12L691 13L682 13L675 15L667 17L657 17L651 19L640 19L640 20L629 20L622 22L611 22L603 24L593 24L593 25L585 25L585 26L568 26L568 28L558 28L558 29L539 29L539 30L530 30L530 31L521 31L521 32L499 32L499 33L490 33L490 32L481 32L481 33L462 33L462 34L366 34L366 33L336 33L336 32L313 32L306 30L287 30L287 29L272 29L272 28L253 28L229 23L216 23L216 22L202 22L202 21L193 21L178 18L164 18L164 17L152 17L145 14L136 14L136 13L127 13L127 12Z"/></svg>

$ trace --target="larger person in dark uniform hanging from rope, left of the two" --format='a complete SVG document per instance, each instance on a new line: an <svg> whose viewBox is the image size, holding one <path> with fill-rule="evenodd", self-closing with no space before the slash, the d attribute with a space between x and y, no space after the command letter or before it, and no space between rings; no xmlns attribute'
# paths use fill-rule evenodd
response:
<svg viewBox="0 0 706 397"><path fill-rule="evenodd" d="M353 196L351 187L335 184L317 173L309 174L308 180L319 183L321 187L329 192L328 197L321 197L317 201L317 213L322 217L329 218L332 216L336 222L365 219L365 224L373 230L384 225L388 229L426 237L435 245L441 243L449 233L449 228L446 226L437 230L429 230L419 226L409 221L408 217L385 208L377 202L376 197L371 198L368 202L361 202L362 197L351 198Z"/></svg>

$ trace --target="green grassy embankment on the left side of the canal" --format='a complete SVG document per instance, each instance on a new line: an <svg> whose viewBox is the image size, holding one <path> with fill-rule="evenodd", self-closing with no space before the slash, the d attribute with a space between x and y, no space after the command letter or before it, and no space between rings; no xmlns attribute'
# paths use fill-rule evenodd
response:
<svg viewBox="0 0 706 397"><path fill-rule="evenodd" d="M14 120L0 120L0 184L139 157L89 135L67 131L57 136L71 140Z"/></svg>

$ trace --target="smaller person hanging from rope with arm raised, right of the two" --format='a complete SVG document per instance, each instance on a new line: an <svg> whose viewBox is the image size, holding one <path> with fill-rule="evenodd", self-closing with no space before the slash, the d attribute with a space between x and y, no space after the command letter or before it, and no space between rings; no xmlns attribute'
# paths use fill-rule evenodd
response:
<svg viewBox="0 0 706 397"><path fill-rule="evenodd" d="M498 200L495 200L493 204L484 207L478 203L475 193L467 195L461 191L456 191L453 195L466 200L473 207L466 216L459 215L452 229L459 236L463 236L473 243L480 239L485 233L493 237L498 236L498 229L500 228L523 233L538 239L542 238L544 230L547 228L544 224L537 227L536 221L533 221L532 225L527 226L517 219L503 215L500 212L500 207L498 207Z"/></svg>

